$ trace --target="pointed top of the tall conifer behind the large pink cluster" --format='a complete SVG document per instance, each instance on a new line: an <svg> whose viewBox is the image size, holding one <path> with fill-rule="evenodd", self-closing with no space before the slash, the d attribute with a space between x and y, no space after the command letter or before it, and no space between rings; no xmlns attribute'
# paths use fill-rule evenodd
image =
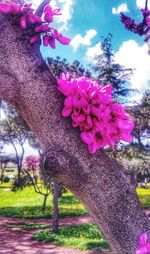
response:
<svg viewBox="0 0 150 254"><path fill-rule="evenodd" d="M112 35L102 37L100 43L101 52L95 57L92 69L96 74L96 79L103 86L112 85L113 96L118 101L127 100L126 96L130 94L130 77L133 73L131 68L115 62L115 55L112 49Z"/></svg>

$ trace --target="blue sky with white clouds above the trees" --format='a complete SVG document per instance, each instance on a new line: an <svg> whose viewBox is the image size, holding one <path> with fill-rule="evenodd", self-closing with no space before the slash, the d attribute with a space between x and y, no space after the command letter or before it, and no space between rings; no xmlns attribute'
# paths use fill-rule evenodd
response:
<svg viewBox="0 0 150 254"><path fill-rule="evenodd" d="M40 2L34 0L36 4ZM119 19L122 11L139 22L140 8L144 7L145 0L51 0L51 5L61 7L63 15L55 18L55 25L72 41L70 46L58 44L55 50L42 49L44 56L60 56L69 61L77 59L86 66L100 52L101 36L111 33L116 61L135 68L132 86L141 92L148 88L150 56L147 54L147 45L143 38L125 30Z"/></svg>

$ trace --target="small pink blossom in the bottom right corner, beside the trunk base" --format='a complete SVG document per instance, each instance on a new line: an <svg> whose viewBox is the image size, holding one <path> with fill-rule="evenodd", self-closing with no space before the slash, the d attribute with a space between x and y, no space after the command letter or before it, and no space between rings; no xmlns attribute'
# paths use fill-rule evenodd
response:
<svg viewBox="0 0 150 254"><path fill-rule="evenodd" d="M148 243L147 233L143 233L140 236L139 247L136 250L136 254L150 254L150 243Z"/></svg>

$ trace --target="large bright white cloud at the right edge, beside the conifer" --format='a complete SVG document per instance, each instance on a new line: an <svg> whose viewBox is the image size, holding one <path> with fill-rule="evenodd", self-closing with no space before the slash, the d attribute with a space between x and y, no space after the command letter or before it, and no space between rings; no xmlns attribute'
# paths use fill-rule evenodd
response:
<svg viewBox="0 0 150 254"><path fill-rule="evenodd" d="M136 41L128 40L115 54L117 63L135 68L131 84L134 89L139 89L141 92L150 88L150 56L147 50L147 44L139 46Z"/></svg>

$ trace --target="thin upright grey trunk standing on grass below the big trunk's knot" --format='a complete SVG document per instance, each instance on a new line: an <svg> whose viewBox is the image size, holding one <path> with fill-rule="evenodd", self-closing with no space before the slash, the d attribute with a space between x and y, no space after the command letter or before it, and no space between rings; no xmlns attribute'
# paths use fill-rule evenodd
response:
<svg viewBox="0 0 150 254"><path fill-rule="evenodd" d="M52 232L57 233L59 229L59 190L60 186L56 180L53 180L53 219L52 219Z"/></svg>

